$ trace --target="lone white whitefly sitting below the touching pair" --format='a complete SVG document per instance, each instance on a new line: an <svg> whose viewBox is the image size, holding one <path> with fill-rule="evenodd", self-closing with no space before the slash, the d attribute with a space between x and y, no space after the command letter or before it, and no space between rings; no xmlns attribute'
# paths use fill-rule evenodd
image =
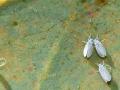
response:
<svg viewBox="0 0 120 90"><path fill-rule="evenodd" d="M108 70L106 69L104 63L103 64L98 64L98 67L99 67L99 73L102 77L102 79L108 83L111 81L111 75L110 73L108 72Z"/></svg>

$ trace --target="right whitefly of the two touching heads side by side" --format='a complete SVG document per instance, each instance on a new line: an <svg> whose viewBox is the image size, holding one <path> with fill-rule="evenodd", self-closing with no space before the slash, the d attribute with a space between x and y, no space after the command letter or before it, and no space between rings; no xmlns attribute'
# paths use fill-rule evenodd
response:
<svg viewBox="0 0 120 90"><path fill-rule="evenodd" d="M106 56L106 49L103 46L103 44L99 41L98 37L96 37L96 39L94 39L93 42L98 55L104 58Z"/></svg>

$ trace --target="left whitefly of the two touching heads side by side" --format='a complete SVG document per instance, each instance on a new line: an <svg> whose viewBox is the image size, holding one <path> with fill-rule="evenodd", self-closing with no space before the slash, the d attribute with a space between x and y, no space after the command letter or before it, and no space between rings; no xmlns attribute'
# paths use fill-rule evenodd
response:
<svg viewBox="0 0 120 90"><path fill-rule="evenodd" d="M84 57L89 58L92 55L93 52L93 39L89 36L88 41L86 42L86 45L83 50Z"/></svg>

